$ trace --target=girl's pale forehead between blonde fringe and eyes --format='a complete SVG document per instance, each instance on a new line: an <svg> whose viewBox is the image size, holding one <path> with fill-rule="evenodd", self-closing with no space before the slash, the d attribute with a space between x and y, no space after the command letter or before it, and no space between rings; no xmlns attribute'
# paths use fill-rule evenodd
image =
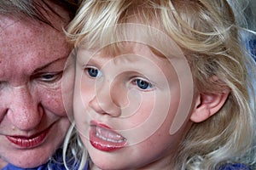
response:
<svg viewBox="0 0 256 170"><path fill-rule="evenodd" d="M180 63L186 60L177 61L175 58L168 59L154 48L139 42L125 42L122 48L113 54L113 47L98 49L97 51L79 50L78 63L82 65L96 65L102 69L110 65L113 67L121 66L122 69L135 69L135 71L164 71L173 72L173 68L179 67ZM109 51L109 48L111 49ZM104 50L105 49L105 50ZM111 70L108 68L107 70ZM121 69L121 70L122 70ZM156 69L156 70L155 70ZM168 73L169 74L169 73Z"/></svg>

